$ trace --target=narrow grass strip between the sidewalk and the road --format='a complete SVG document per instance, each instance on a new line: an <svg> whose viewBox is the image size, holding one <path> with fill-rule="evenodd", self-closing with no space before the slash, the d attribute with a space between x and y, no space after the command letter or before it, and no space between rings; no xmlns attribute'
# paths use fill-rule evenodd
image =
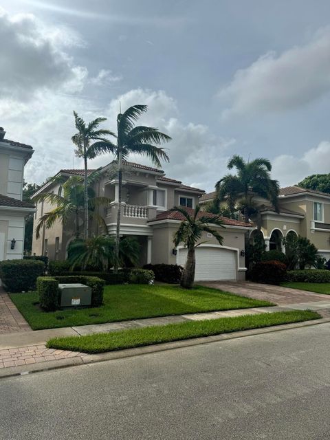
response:
<svg viewBox="0 0 330 440"><path fill-rule="evenodd" d="M181 322L180 324L113 331L111 333L54 338L47 342L47 347L51 349L83 351L85 353L103 353L104 351L131 349L133 347L143 347L144 345L162 342L219 335L220 333L270 327L272 325L318 318L320 318L320 315L315 311L279 311L273 314L188 321Z"/></svg>

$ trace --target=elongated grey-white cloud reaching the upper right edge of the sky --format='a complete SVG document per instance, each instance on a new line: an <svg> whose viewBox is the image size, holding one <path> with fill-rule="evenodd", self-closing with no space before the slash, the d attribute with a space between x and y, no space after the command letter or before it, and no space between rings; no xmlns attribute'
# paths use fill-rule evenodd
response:
<svg viewBox="0 0 330 440"><path fill-rule="evenodd" d="M282 54L267 52L240 69L219 98L228 104L223 117L280 112L312 102L330 91L330 28L309 43Z"/></svg>

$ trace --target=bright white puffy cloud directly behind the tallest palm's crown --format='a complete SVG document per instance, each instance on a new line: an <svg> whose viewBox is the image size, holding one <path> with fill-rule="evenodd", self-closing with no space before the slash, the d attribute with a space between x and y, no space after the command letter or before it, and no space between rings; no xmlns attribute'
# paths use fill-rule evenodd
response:
<svg viewBox="0 0 330 440"><path fill-rule="evenodd" d="M170 163L164 163L168 177L207 190L214 188L215 181L225 172L228 159L226 148L234 144L233 139L217 138L208 126L203 124L181 122L177 102L162 90L133 89L112 100L106 115L110 129L113 130L119 112L119 102L122 111L133 104L148 105L148 112L142 116L138 124L155 126L172 137L171 142L164 144L170 157ZM109 156L109 160L111 159ZM150 164L148 159L140 156L132 156L131 160ZM104 162L104 157L98 157L93 163L94 166L101 166ZM214 162L217 166L214 166Z"/></svg>

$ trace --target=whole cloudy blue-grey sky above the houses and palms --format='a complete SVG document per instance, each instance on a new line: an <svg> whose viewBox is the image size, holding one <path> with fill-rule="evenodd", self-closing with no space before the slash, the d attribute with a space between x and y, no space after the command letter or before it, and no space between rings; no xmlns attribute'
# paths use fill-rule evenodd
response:
<svg viewBox="0 0 330 440"><path fill-rule="evenodd" d="M212 190L233 153L271 159L282 186L330 171L327 0L2 0L0 41L0 125L35 148L27 181L79 168L72 111L115 130L119 101L148 104L186 184Z"/></svg>

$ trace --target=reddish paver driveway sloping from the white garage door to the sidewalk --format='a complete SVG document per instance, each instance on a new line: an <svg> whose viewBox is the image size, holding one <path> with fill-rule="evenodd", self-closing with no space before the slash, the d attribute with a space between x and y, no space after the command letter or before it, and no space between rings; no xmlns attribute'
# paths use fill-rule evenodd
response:
<svg viewBox="0 0 330 440"><path fill-rule="evenodd" d="M315 303L317 301L330 302L330 295L314 294L306 290L289 289L289 287L270 284L250 283L250 281L204 281L199 284L256 300L267 300L277 305Z"/></svg>

